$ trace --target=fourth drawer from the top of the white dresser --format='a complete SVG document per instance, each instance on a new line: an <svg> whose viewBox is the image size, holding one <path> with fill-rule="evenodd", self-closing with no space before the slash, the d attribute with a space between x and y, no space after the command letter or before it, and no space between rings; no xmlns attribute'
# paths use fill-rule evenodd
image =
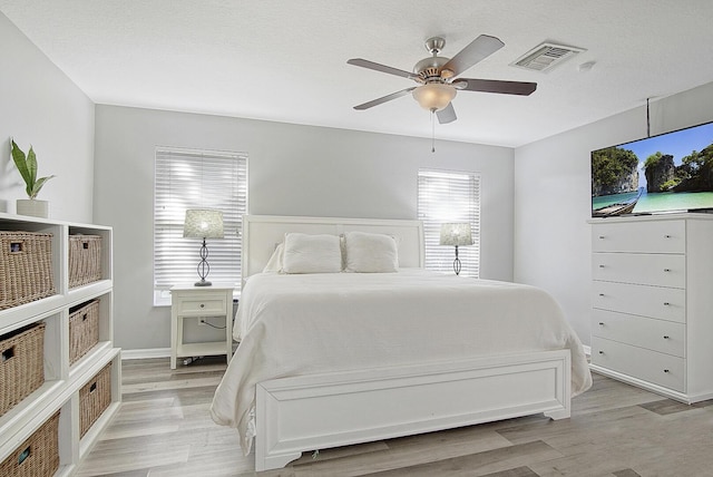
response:
<svg viewBox="0 0 713 477"><path fill-rule="evenodd" d="M635 314L594 310L592 334L597 338L634 344L685 358L686 325Z"/></svg>

